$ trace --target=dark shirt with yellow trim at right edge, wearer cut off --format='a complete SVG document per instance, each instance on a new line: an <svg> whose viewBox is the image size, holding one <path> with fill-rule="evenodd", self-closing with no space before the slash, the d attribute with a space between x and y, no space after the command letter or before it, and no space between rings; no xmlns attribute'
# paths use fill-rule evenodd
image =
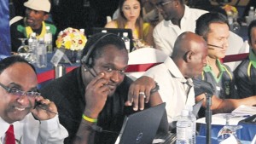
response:
<svg viewBox="0 0 256 144"><path fill-rule="evenodd" d="M238 94L241 98L256 95L256 55L253 50L234 72Z"/></svg>

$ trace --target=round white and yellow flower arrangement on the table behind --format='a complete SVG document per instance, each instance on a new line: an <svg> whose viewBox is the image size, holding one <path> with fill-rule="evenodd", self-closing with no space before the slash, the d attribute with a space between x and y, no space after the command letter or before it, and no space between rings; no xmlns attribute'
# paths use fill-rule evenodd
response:
<svg viewBox="0 0 256 144"><path fill-rule="evenodd" d="M65 48L70 50L82 50L87 42L84 31L68 27L61 31L56 40L57 48Z"/></svg>

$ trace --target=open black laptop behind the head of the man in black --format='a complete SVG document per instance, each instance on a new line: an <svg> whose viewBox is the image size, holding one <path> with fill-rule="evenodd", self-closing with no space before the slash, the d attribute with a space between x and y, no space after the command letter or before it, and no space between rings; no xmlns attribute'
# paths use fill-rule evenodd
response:
<svg viewBox="0 0 256 144"><path fill-rule="evenodd" d="M130 39L130 51L133 49L133 42L132 42L132 31L131 29L125 28L105 28L105 27L92 27L92 34L100 33L100 32L108 32L118 35L119 37L123 37L123 33L127 32L128 37Z"/></svg>

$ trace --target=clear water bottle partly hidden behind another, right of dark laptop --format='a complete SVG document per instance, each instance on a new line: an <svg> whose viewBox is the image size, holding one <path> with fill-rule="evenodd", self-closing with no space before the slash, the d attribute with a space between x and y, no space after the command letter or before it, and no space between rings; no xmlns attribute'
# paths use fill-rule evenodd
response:
<svg viewBox="0 0 256 144"><path fill-rule="evenodd" d="M185 107L186 110L189 111L189 119L192 122L192 144L195 144L195 139L196 139L196 118L195 115L193 113L193 107L190 105L187 105Z"/></svg>

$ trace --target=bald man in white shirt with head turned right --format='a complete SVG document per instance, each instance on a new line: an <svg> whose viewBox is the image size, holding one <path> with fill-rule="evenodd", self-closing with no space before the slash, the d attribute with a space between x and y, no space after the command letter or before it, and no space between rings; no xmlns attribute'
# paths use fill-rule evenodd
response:
<svg viewBox="0 0 256 144"><path fill-rule="evenodd" d="M177 121L177 116L186 105L195 104L194 78L201 74L207 64L207 43L193 32L183 32L177 37L171 57L164 63L150 68L142 78L131 84L132 90L144 90L151 81L159 84L159 94L166 102L168 122ZM153 80L153 79L154 80Z"/></svg>

